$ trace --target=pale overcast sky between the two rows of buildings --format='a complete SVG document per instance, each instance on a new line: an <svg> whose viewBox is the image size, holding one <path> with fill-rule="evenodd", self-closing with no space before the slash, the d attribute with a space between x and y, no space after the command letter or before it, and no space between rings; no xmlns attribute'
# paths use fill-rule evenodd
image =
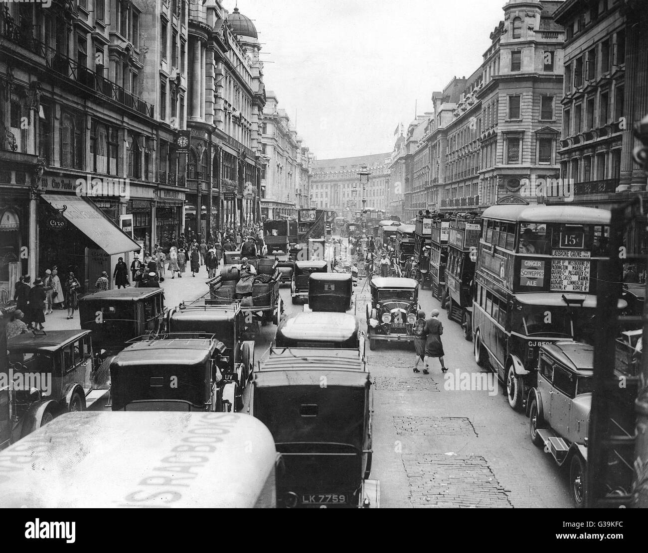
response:
<svg viewBox="0 0 648 553"><path fill-rule="evenodd" d="M318 159L387 153L432 111L432 92L469 76L507 0L238 0L252 19L266 91ZM232 12L237 0L223 0ZM296 125L295 125L296 121Z"/></svg>

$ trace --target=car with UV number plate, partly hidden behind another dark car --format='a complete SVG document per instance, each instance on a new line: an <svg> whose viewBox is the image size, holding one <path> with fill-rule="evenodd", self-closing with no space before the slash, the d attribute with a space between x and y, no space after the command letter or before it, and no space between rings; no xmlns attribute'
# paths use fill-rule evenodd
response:
<svg viewBox="0 0 648 553"><path fill-rule="evenodd" d="M254 342L242 339L246 317L240 302L219 299L181 303L167 315L169 332L206 332L224 345L224 351L218 350L218 369L223 376L220 395L237 398L237 409L254 371Z"/></svg>

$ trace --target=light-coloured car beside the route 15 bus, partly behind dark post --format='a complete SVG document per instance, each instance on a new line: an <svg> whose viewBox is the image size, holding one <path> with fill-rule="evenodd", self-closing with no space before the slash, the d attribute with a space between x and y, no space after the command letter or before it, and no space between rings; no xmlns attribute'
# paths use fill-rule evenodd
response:
<svg viewBox="0 0 648 553"><path fill-rule="evenodd" d="M594 348L577 342L540 347L538 384L529 392L529 433L536 446L568 466L570 490L583 506L587 439L594 385Z"/></svg>

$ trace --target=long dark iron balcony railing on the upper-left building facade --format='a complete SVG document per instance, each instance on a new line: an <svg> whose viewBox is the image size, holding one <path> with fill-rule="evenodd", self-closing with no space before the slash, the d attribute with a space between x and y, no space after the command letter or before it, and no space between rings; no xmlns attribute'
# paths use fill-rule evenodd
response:
<svg viewBox="0 0 648 553"><path fill-rule="evenodd" d="M102 73L95 72L84 65L80 65L78 61L68 58L64 54L60 54L60 52L48 47L45 43L35 38L36 36L40 36L40 27L34 25L17 26L14 19L8 16L6 11L0 10L0 13L2 14L0 19L0 36L29 50L32 54L45 58L45 65L52 72L76 81L80 85L84 85L95 92L100 92L130 109L153 118L153 105L108 80Z"/></svg>

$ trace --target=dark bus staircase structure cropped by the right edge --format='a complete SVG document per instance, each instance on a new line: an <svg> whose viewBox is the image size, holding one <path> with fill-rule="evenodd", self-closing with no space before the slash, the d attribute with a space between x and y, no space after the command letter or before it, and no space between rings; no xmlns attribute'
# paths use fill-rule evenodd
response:
<svg viewBox="0 0 648 553"><path fill-rule="evenodd" d="M635 407L642 385L642 370L648 374L648 356L642 356L641 350L628 343L629 340L618 338L631 336L633 329L643 329L640 340L648 338L648 310L645 301L643 314L631 312L619 315L617 307L623 294L623 263L645 265L647 261L645 254L625 252L623 234L627 229L640 229L640 233L643 233L641 242L645 244L647 224L648 218L640 197L612 210L612 255L609 261L601 263L597 287L596 318L605 323L597 325L594 347L594 393L588 431L586 481L583 486L585 506L588 508L633 506L633 503L636 504L633 489L636 493L637 488L646 488L648 483L648 464L642 462L642 457L647 458L647 452L636 449L636 428L640 428L640 425ZM631 241L628 240L627 244L631 244ZM621 252L621 255L617 252Z"/></svg>

